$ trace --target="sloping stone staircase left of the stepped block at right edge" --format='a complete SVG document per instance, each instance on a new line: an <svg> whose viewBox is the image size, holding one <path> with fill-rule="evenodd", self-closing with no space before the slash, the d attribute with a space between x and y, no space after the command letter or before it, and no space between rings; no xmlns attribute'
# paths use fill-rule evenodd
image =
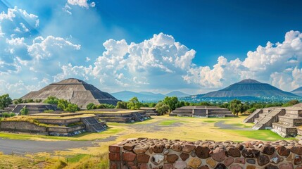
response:
<svg viewBox="0 0 302 169"><path fill-rule="evenodd" d="M279 121L279 115L284 115L285 109L275 108L268 113L261 113L258 119L255 119L254 130L263 130L272 127L272 123Z"/></svg>

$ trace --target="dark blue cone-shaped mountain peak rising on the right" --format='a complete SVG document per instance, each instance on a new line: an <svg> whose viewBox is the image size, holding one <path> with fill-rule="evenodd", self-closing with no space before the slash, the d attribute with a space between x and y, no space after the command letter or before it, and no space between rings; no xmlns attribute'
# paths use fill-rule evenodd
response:
<svg viewBox="0 0 302 169"><path fill-rule="evenodd" d="M273 87L267 83L261 83L257 80L242 80L229 85L225 89L215 92L209 92L201 97L298 97L296 94L284 92L277 87Z"/></svg>

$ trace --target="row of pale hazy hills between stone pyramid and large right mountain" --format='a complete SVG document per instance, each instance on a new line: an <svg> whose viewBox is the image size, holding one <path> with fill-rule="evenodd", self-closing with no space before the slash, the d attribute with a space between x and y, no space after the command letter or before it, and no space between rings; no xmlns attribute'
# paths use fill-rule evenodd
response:
<svg viewBox="0 0 302 169"><path fill-rule="evenodd" d="M177 96L178 98L189 96L189 94L185 94L180 91L173 91L168 94L160 94L160 93L155 94L152 92L121 91L121 92L112 93L111 95L122 101L129 101L134 96L136 96L137 99L139 99L139 101L159 101L159 100L163 100L165 96Z"/></svg>

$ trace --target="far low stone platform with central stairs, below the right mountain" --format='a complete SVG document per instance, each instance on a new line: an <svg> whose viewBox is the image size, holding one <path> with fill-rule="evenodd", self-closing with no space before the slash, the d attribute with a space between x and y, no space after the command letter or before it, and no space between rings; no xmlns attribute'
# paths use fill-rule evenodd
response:
<svg viewBox="0 0 302 169"><path fill-rule="evenodd" d="M220 108L216 106L183 106L176 108L170 113L171 116L187 116L187 117L199 117L199 118L210 118L210 117L234 117L231 111L227 108Z"/></svg>

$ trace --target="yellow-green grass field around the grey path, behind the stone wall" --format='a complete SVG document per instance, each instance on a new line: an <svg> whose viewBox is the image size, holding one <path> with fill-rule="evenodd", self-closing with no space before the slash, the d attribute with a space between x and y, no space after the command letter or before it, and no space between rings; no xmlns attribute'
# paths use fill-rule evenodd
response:
<svg viewBox="0 0 302 169"><path fill-rule="evenodd" d="M108 130L101 133L84 133L74 137L51 137L34 134L12 134L0 132L4 139L43 140L49 142L74 140L103 140L114 136L113 141L101 142L99 146L85 149L68 149L56 151L54 154L40 153L30 158L39 159L31 163L28 157L0 155L0 168L108 168L108 146L134 137L182 139L188 141L211 139L215 141L233 140L244 142L246 140L260 139L275 141L284 139L270 130L251 130L253 124L244 124L246 116L239 118L185 118L170 117L168 115L156 116L140 123L107 123ZM285 138L294 139L294 138ZM22 142L22 141L20 141ZM58 158L60 156L61 158Z"/></svg>

